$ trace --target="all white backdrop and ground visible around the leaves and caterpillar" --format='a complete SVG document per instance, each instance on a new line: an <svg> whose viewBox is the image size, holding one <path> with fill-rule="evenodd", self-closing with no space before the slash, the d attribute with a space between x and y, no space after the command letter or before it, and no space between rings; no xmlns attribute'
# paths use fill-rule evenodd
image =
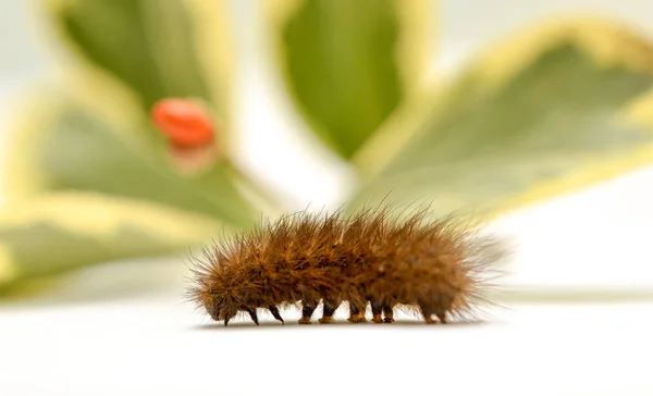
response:
<svg viewBox="0 0 653 396"><path fill-rule="evenodd" d="M50 74L28 3L0 2L0 141L17 94ZM252 23L258 2L232 3L243 163L298 208L340 202L350 173L311 145L275 90ZM514 28L572 10L632 22L653 37L652 1L445 1L434 67L455 69ZM652 186L653 169L643 169L495 224L515 246L512 282L650 289ZM494 322L451 327L224 330L182 304L178 261L139 263L138 273L134 264L81 272L40 299L0 302L0 394L653 395L651 304L522 304Z"/></svg>

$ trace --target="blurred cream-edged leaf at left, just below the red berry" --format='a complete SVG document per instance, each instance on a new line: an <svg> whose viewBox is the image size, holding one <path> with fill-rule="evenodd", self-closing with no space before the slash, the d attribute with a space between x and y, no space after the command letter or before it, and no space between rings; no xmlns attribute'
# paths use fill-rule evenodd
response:
<svg viewBox="0 0 653 396"><path fill-rule="evenodd" d="M44 191L95 191L164 203L234 226L256 219L258 213L237 188L239 175L227 162L185 177L157 150L125 138L134 135L131 131L116 131L65 96L41 96L33 104L19 116L25 125L12 131L7 149L10 200Z"/></svg>

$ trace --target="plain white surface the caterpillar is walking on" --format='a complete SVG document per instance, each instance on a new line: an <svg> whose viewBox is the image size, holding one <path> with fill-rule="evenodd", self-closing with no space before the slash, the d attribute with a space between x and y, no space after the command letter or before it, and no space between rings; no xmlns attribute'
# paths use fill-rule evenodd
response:
<svg viewBox="0 0 653 396"><path fill-rule="evenodd" d="M489 323L207 324L177 298L1 310L2 395L652 395L653 305ZM293 318L293 321L289 318Z"/></svg>

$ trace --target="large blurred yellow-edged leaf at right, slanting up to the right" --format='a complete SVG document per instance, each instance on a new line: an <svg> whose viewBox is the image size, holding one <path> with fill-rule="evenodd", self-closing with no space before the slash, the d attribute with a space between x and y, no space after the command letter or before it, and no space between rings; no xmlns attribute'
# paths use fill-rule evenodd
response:
<svg viewBox="0 0 653 396"><path fill-rule="evenodd" d="M489 219L653 160L651 125L631 113L653 86L650 45L604 23L526 36L389 123L356 159L369 178L352 207L390 193Z"/></svg>

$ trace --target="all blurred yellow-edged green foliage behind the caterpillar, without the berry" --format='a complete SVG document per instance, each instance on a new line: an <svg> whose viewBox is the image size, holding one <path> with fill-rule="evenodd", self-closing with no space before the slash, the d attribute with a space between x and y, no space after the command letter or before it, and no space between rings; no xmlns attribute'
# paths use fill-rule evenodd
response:
<svg viewBox="0 0 653 396"><path fill-rule="evenodd" d="M64 89L20 114L5 163L0 289L94 263L171 255L283 210L231 160L236 61L224 1L47 0L72 58ZM485 219L651 161L653 49L571 21L516 33L426 87L426 0L278 0L274 65L310 131L361 175L348 209L392 191ZM149 121L190 97L220 154L182 172Z"/></svg>

